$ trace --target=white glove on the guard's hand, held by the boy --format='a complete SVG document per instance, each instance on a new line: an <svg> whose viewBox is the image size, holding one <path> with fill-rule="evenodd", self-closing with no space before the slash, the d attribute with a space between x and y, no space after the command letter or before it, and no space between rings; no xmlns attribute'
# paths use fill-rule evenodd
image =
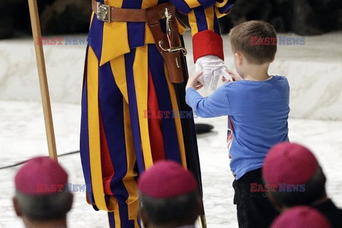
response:
<svg viewBox="0 0 342 228"><path fill-rule="evenodd" d="M197 58L195 63L196 73L203 72L198 81L202 83L204 88L215 90L219 81L219 76L222 75L227 81L233 81L232 76L229 76L224 66L224 61L217 56L202 56Z"/></svg>

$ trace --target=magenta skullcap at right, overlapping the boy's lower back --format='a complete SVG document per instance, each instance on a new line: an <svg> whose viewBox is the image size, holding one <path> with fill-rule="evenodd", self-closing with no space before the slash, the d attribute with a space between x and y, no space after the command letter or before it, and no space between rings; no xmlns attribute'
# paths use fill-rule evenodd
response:
<svg viewBox="0 0 342 228"><path fill-rule="evenodd" d="M262 168L265 182L279 187L301 185L310 180L316 172L318 162L314 154L297 143L281 142L267 153Z"/></svg>

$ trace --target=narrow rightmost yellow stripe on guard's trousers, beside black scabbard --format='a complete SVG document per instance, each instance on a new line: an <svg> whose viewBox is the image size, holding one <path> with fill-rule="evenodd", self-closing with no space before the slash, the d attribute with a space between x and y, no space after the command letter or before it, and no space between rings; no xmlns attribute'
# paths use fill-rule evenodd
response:
<svg viewBox="0 0 342 228"><path fill-rule="evenodd" d="M167 86L170 91L170 98L171 98L171 103L172 103L172 110L180 110L178 107L177 103L177 97L176 97L176 91L175 91L175 86L170 82L170 78L167 76L167 68L165 68L165 76L166 76L166 81L167 81ZM177 138L178 138L178 145L180 145L180 158L182 160L182 165L183 167L187 167L187 157L185 155L185 146L184 146L184 139L183 139L183 131L182 131L182 124L180 123L180 118L176 117L174 118L175 120L175 125L176 125L176 130L177 130Z"/></svg>

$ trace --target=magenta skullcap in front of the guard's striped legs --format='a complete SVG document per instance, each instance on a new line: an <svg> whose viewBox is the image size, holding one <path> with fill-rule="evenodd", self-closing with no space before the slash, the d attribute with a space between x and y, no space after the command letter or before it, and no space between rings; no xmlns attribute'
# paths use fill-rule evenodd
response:
<svg viewBox="0 0 342 228"><path fill-rule="evenodd" d="M197 190L194 175L171 160L155 162L138 180L138 190L147 197L166 198Z"/></svg>

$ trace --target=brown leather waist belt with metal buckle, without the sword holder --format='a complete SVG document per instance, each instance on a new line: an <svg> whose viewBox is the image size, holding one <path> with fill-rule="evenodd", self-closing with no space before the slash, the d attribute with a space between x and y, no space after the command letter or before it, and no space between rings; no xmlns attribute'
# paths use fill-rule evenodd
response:
<svg viewBox="0 0 342 228"><path fill-rule="evenodd" d="M91 6L100 21L146 22L146 9L121 9L92 0Z"/></svg>

